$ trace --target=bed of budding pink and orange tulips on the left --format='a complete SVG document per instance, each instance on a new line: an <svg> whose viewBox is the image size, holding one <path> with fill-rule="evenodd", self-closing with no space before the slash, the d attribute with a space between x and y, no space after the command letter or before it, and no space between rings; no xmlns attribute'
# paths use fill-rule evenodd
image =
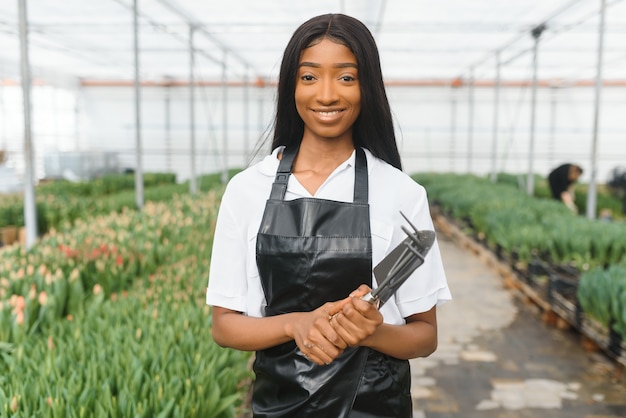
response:
<svg viewBox="0 0 626 418"><path fill-rule="evenodd" d="M204 303L219 193L76 220L0 263L0 416L233 417L249 354Z"/></svg>

